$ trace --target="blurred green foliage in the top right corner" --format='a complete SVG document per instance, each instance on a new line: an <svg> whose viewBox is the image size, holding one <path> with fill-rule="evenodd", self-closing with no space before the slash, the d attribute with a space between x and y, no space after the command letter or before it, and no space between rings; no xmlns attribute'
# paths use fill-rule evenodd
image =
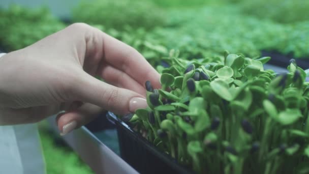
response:
<svg viewBox="0 0 309 174"><path fill-rule="evenodd" d="M280 23L309 20L309 1L304 0L252 0L241 2L242 11L259 18Z"/></svg>

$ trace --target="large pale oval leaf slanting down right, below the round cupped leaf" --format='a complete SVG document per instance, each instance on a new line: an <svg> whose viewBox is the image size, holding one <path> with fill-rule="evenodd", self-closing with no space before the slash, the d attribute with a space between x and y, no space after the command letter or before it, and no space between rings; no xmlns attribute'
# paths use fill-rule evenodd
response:
<svg viewBox="0 0 309 174"><path fill-rule="evenodd" d="M233 99L232 94L228 90L228 84L222 80L215 80L210 82L211 89L219 95L221 98L231 101Z"/></svg>

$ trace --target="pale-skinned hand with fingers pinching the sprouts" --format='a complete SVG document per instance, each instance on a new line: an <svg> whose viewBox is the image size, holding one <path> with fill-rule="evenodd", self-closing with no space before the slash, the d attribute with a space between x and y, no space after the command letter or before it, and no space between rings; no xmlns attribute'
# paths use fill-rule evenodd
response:
<svg viewBox="0 0 309 174"><path fill-rule="evenodd" d="M145 81L160 88L159 79L134 48L75 23L0 57L0 126L36 123L65 110L56 119L65 135L104 110L123 115L145 108Z"/></svg>

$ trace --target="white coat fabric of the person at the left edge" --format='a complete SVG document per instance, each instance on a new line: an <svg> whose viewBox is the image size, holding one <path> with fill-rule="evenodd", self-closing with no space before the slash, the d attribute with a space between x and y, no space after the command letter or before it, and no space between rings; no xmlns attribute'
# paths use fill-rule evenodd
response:
<svg viewBox="0 0 309 174"><path fill-rule="evenodd" d="M37 124L0 126L0 154L0 173L46 173Z"/></svg>

